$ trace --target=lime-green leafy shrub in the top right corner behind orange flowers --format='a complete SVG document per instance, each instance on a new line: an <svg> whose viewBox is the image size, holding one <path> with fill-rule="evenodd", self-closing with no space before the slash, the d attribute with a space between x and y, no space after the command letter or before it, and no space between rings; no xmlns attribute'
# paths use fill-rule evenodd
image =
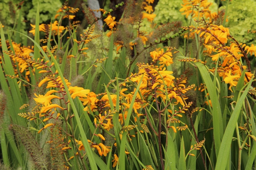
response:
<svg viewBox="0 0 256 170"><path fill-rule="evenodd" d="M230 33L237 41L247 45L256 43L256 1L233 0L228 5L228 22Z"/></svg>

